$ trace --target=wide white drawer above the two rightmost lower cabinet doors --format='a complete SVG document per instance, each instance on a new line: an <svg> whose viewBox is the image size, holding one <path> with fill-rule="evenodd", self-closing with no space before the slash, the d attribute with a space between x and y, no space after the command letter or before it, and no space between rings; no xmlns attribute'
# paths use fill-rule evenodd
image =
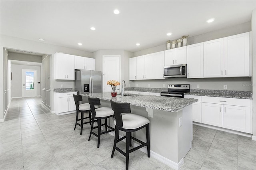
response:
<svg viewBox="0 0 256 170"><path fill-rule="evenodd" d="M202 96L202 102L250 107L250 99L234 99L234 98L225 98L225 97Z"/></svg>

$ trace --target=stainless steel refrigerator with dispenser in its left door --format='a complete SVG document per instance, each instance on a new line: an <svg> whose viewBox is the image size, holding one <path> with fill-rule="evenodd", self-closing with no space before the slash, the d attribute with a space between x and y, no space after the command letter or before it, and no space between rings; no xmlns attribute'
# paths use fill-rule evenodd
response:
<svg viewBox="0 0 256 170"><path fill-rule="evenodd" d="M102 72L93 70L75 71L75 90L80 94L102 93Z"/></svg>

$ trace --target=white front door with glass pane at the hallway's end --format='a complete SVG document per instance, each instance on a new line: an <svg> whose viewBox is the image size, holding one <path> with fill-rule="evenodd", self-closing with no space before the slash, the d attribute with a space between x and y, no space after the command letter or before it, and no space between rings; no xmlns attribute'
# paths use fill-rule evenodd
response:
<svg viewBox="0 0 256 170"><path fill-rule="evenodd" d="M37 96L37 70L22 69L22 97Z"/></svg>

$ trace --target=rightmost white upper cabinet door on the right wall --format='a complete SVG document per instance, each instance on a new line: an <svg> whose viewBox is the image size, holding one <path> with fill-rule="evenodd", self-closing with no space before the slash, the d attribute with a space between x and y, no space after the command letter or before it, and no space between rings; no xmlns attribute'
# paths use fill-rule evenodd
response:
<svg viewBox="0 0 256 170"><path fill-rule="evenodd" d="M225 77L249 76L249 33L224 38Z"/></svg>

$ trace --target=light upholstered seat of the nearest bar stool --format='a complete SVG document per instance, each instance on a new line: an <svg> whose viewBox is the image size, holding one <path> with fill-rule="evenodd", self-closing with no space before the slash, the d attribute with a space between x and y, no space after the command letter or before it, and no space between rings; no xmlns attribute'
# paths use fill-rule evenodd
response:
<svg viewBox="0 0 256 170"><path fill-rule="evenodd" d="M145 117L135 114L124 114L122 115L123 128L125 129L136 129L149 123L149 120ZM116 125L116 120L114 121Z"/></svg>

